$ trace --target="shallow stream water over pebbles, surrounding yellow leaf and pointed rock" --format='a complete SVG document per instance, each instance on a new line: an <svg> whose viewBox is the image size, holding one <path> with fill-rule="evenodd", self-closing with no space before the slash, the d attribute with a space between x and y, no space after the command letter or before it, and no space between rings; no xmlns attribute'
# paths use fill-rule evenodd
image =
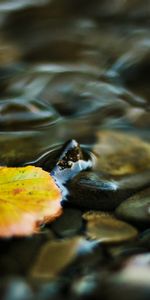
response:
<svg viewBox="0 0 150 300"><path fill-rule="evenodd" d="M149 0L0 1L0 165L91 161L57 221L0 240L0 299L150 298L149 28Z"/></svg>

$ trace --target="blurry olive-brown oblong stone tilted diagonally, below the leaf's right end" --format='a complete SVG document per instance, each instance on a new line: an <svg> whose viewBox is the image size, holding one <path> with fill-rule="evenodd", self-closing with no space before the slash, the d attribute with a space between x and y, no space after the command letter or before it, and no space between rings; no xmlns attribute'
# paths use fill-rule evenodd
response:
<svg viewBox="0 0 150 300"><path fill-rule="evenodd" d="M77 257L85 240L76 237L64 241L47 242L36 258L30 277L37 282L58 278Z"/></svg>

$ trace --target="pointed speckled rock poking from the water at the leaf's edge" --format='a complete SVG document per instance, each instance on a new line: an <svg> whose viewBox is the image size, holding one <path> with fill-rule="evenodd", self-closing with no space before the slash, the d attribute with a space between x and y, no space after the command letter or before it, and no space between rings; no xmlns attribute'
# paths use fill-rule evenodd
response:
<svg viewBox="0 0 150 300"><path fill-rule="evenodd" d="M51 172L60 184L67 182L80 171L90 168L92 158L91 153L86 152L76 140L69 140L65 144L53 145L28 165L35 165Z"/></svg>

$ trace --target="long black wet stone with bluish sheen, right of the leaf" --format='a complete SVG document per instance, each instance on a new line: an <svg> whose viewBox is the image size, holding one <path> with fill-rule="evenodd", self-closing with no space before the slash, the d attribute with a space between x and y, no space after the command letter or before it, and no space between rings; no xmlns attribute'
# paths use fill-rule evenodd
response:
<svg viewBox="0 0 150 300"><path fill-rule="evenodd" d="M116 177L82 172L68 184L68 204L81 209L112 211L136 191L148 186L149 178L149 171Z"/></svg>

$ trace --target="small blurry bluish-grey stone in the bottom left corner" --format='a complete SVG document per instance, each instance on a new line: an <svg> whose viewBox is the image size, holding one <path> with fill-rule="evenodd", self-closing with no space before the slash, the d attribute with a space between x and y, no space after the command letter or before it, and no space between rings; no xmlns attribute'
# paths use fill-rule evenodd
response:
<svg viewBox="0 0 150 300"><path fill-rule="evenodd" d="M1 281L0 298L2 300L32 300L33 292L27 282L14 277Z"/></svg>

